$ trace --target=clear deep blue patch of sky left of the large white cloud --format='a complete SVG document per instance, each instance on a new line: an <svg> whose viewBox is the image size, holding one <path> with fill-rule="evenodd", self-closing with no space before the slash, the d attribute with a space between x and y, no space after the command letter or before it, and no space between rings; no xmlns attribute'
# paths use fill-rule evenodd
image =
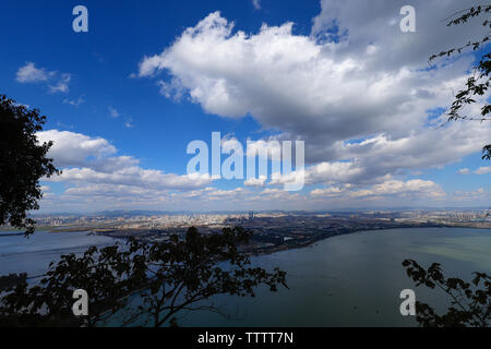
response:
<svg viewBox="0 0 491 349"><path fill-rule="evenodd" d="M264 21L280 24L285 16L299 23L298 31L308 32L311 17L320 10L318 1L301 8L297 1L284 3L287 8L272 2L268 11L258 11L248 1L152 1L146 5L139 1L85 1L89 31L77 34L72 31L72 9L76 4L0 4L3 33L13 33L4 38L5 47L12 49L2 55L2 89L49 116L46 129L103 136L121 153L140 157L145 166L173 172L185 171L183 149L190 141L209 139L212 131L244 137L261 132L261 128L252 118L229 122L203 116L200 106L166 99L152 83L129 79L143 56L160 51L183 28L218 9L238 19L241 28L250 32L256 32ZM287 16L287 9L292 15ZM70 72L70 93L47 94L45 85L19 84L13 77L25 62ZM79 108L63 104L64 99L79 98L83 99ZM111 118L109 107L120 117ZM124 127L130 119L134 130Z"/></svg>

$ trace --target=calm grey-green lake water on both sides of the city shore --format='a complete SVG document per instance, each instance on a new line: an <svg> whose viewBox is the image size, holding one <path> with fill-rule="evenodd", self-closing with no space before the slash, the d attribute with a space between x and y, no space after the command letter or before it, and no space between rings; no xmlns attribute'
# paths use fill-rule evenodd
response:
<svg viewBox="0 0 491 349"><path fill-rule="evenodd" d="M61 254L83 252L88 245L113 243L85 232L38 231L23 237L0 237L0 275L44 274ZM178 317L183 326L415 326L402 316L399 293L415 289L420 301L445 309L447 297L415 288L402 262L423 266L442 264L446 276L470 280L472 272L491 274L491 229L418 228L350 233L314 245L255 256L254 265L287 272L289 290L260 289L255 298L216 297L213 302L229 317L189 312Z"/></svg>

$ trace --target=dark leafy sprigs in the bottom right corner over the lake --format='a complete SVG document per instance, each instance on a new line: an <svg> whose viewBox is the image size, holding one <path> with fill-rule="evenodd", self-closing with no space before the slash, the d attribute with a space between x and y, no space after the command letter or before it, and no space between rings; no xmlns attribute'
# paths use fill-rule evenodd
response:
<svg viewBox="0 0 491 349"><path fill-rule="evenodd" d="M491 323L491 277L474 273L470 282L445 277L441 265L433 263L428 269L416 261L405 260L403 266L416 286L439 288L451 298L451 306L443 315L426 303L416 302L416 320L424 327L487 327Z"/></svg>

